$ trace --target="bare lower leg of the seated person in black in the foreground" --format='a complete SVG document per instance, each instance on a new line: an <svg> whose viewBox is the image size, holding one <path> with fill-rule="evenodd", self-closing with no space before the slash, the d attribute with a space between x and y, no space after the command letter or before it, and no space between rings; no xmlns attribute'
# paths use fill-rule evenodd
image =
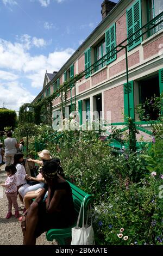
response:
<svg viewBox="0 0 163 256"><path fill-rule="evenodd" d="M38 204L33 203L28 209L28 214L26 217L26 229L24 230L23 245L35 245L35 229L38 222Z"/></svg>

